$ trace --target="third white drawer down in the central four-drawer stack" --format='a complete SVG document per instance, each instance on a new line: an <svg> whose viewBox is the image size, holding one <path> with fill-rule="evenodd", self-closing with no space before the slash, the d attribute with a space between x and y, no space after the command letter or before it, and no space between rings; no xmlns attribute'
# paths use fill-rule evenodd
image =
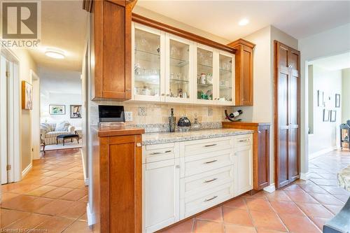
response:
<svg viewBox="0 0 350 233"><path fill-rule="evenodd" d="M181 198L197 195L205 190L212 190L224 183L233 183L234 166L221 167L194 176L181 179Z"/></svg>

